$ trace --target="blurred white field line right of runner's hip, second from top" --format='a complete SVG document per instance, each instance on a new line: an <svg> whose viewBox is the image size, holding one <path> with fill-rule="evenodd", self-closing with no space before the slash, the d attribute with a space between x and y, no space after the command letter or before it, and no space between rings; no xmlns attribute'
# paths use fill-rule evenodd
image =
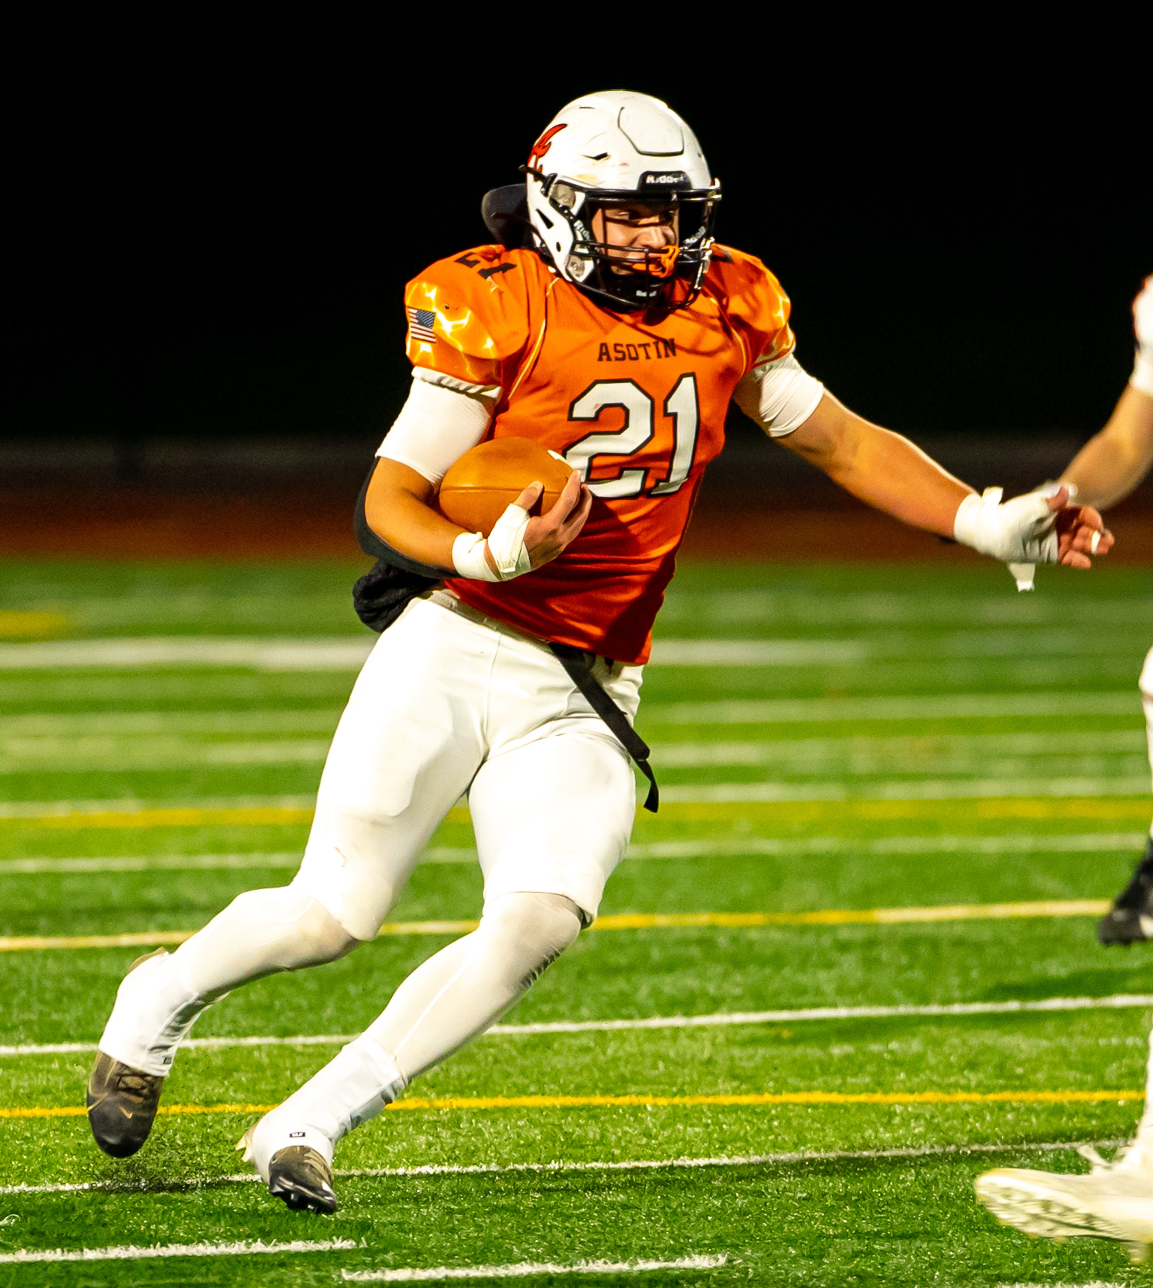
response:
<svg viewBox="0 0 1153 1288"><path fill-rule="evenodd" d="M780 698L770 702L654 702L664 724L827 724L839 720L964 720L1024 716L1140 716L1136 685L1109 693L955 693L923 698Z"/></svg>

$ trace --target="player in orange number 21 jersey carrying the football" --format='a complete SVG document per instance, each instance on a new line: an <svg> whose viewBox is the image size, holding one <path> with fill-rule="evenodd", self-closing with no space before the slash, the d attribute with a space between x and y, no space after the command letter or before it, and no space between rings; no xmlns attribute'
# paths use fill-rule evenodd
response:
<svg viewBox="0 0 1153 1288"><path fill-rule="evenodd" d="M592 923L636 811L629 739L606 721L615 712L636 739L652 621L731 399L854 496L928 532L1073 568L1090 565L1094 542L1109 549L1100 515L1068 505L1064 488L979 497L827 393L797 361L777 279L713 240L719 200L664 103L589 94L539 137L525 182L485 198L498 241L408 285L412 390L364 515L392 565L429 576L356 680L292 884L242 894L122 981L89 1083L108 1154L144 1142L206 1006L377 934L465 792L480 926L246 1133L272 1194L333 1211L340 1139L488 1029ZM539 440L571 475L546 514L530 513L540 487L528 487L485 538L445 519L436 489L494 435Z"/></svg>

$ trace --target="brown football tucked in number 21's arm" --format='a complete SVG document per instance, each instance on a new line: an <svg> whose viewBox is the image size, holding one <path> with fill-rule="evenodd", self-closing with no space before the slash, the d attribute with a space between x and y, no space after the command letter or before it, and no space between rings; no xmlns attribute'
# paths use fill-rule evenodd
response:
<svg viewBox="0 0 1153 1288"><path fill-rule="evenodd" d="M466 532L488 536L493 524L530 483L544 493L533 514L552 509L571 466L531 438L492 438L466 452L440 484L440 513Z"/></svg>

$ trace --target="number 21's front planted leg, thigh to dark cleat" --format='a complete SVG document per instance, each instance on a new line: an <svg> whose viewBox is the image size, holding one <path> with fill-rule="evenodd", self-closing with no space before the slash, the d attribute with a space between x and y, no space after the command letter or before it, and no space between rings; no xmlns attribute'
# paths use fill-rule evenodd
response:
<svg viewBox="0 0 1153 1288"><path fill-rule="evenodd" d="M525 690L507 696L522 702ZM507 720L510 737L470 790L485 873L480 927L418 967L365 1033L246 1133L246 1158L290 1207L333 1211L337 1141L494 1024L595 918L628 844L636 788L619 743L583 699L571 706L535 732Z"/></svg>

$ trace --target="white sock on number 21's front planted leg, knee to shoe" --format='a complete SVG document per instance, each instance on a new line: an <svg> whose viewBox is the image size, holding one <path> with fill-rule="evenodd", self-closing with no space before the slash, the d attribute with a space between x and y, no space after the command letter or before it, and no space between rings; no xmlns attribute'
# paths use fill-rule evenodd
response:
<svg viewBox="0 0 1153 1288"><path fill-rule="evenodd" d="M341 1136L522 997L580 923L576 905L562 895L495 899L477 930L418 966L367 1032L260 1119L246 1157L265 1180L273 1154L288 1145L311 1145L331 1163Z"/></svg>

